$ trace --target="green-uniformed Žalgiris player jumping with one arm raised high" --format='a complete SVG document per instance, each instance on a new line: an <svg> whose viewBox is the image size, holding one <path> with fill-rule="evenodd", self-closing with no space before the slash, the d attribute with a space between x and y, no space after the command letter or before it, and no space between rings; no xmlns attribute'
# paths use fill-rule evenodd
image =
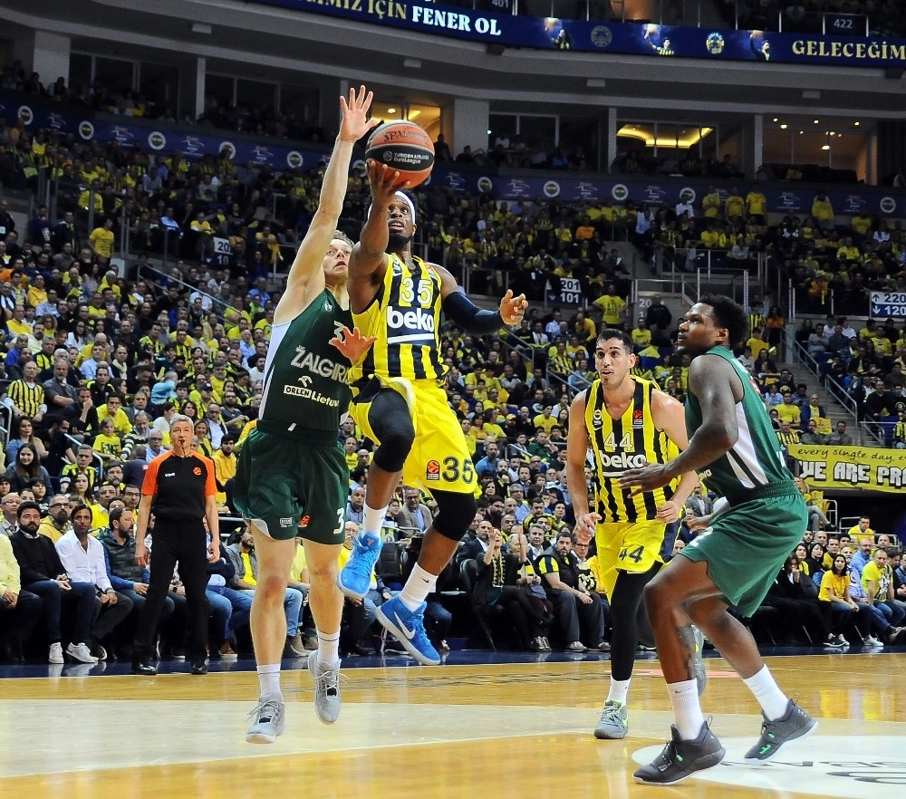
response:
<svg viewBox="0 0 906 799"><path fill-rule="evenodd" d="M346 371L371 341L349 330L346 283L352 242L335 228L352 146L377 123L368 120L371 92L364 86L351 90L348 101L340 98L340 105L342 123L324 173L321 202L275 309L258 423L236 467L234 500L251 525L258 561L251 624L260 694L246 734L250 743L272 743L284 732L283 602L297 534L304 538L312 580L309 602L318 631L318 650L308 663L314 706L325 724L340 713L343 596L336 575L349 473L337 430L352 396Z"/></svg>

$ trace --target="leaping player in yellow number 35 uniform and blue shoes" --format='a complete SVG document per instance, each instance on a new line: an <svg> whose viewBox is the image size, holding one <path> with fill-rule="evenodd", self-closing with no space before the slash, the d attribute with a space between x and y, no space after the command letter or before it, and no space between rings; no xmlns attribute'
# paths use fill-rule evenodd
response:
<svg viewBox="0 0 906 799"><path fill-rule="evenodd" d="M352 318L371 352L352 365L352 416L379 442L368 469L362 531L337 582L347 596L368 591L381 551L381 524L400 484L430 492L438 515L425 534L419 562L402 592L378 608L381 624L419 663L436 665L438 651L424 628L425 599L476 513L477 477L466 437L441 381L440 312L484 335L518 324L524 296L507 292L499 311L480 311L442 266L411 254L416 229L410 198L393 188L399 172L368 162L371 208L349 261Z"/></svg>

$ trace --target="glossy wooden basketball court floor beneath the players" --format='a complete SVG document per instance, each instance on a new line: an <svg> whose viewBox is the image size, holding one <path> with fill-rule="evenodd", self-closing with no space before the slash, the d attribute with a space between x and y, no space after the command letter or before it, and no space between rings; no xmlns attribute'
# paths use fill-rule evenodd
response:
<svg viewBox="0 0 906 799"><path fill-rule="evenodd" d="M636 664L622 741L592 736L609 677L596 654L454 652L437 668L400 657L353 659L373 668L344 666L342 716L333 727L314 716L303 661L284 661L287 729L271 746L244 739L257 692L251 660L217 664L205 677L133 677L120 663L50 674L5 669L0 796L878 799L884 785L906 783L904 658L768 658L781 686L820 723L761 767L741 760L759 732L756 702L725 661L706 659L703 708L728 754L672 787L632 781L669 734L670 703L653 659ZM34 671L43 676L14 676Z"/></svg>

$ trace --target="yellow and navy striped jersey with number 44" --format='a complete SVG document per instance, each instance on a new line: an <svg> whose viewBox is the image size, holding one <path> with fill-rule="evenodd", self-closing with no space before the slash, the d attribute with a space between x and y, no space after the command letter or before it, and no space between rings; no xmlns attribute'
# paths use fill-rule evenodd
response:
<svg viewBox="0 0 906 799"><path fill-rule="evenodd" d="M595 380L585 396L595 504L605 524L655 519L658 506L673 496L676 487L673 483L636 496L620 487L626 469L642 467L646 462L667 463L679 456L679 448L654 426L651 397L657 386L651 380L626 379L635 382L635 394L620 419L612 419L604 406L601 380Z"/></svg>

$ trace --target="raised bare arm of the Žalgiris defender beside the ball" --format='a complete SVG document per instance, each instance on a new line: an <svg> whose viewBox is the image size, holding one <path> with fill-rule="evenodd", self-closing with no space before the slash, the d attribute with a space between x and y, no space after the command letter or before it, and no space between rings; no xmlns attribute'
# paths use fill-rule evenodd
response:
<svg viewBox="0 0 906 799"><path fill-rule="evenodd" d="M324 172L321 201L290 269L287 292L293 290L294 284L306 284L319 276L323 281L322 262L342 212L352 146L378 124L378 120L368 119L372 96L371 91L360 86L358 91L350 89L349 100L340 98L340 132L333 145L330 163Z"/></svg>

